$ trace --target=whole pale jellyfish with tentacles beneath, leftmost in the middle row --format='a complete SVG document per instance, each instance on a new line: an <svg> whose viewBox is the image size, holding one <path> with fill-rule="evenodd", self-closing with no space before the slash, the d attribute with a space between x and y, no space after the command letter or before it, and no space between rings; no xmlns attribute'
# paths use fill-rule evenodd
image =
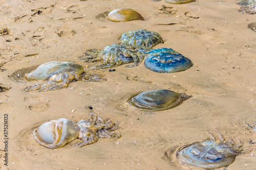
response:
<svg viewBox="0 0 256 170"><path fill-rule="evenodd" d="M46 80L26 88L26 91L49 91L67 87L75 81L100 81L103 75L82 75L83 67L75 62L52 61L39 65L26 74L27 80Z"/></svg>

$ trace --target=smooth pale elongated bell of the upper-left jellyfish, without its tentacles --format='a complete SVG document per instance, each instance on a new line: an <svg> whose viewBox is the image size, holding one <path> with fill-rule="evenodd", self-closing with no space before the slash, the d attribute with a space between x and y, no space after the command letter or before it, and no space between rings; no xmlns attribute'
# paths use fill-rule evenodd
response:
<svg viewBox="0 0 256 170"><path fill-rule="evenodd" d="M52 75L58 75L64 72L75 71L78 74L83 72L83 67L75 62L51 61L39 65L35 70L25 75L28 81L46 80Z"/></svg>

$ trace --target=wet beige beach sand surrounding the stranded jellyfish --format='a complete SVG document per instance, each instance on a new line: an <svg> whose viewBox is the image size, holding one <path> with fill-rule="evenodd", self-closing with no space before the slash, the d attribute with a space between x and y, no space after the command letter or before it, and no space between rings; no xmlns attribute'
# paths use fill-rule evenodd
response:
<svg viewBox="0 0 256 170"><path fill-rule="evenodd" d="M10 88L0 92L2 169L201 169L180 163L176 152L185 144L204 141L207 131L239 137L244 145L248 138L256 140L256 132L245 127L245 122L256 120L256 33L247 28L256 16L238 12L236 1L172 5L151 0L3 0L0 5L0 30L7 29L0 36L0 83ZM134 9L145 20L96 18L117 8ZM109 72L87 70L100 63L79 60L86 49L119 43L123 32L138 29L158 32L165 43L154 48L171 47L194 66L159 74L142 62ZM28 82L24 74L49 61L88 65L86 72L105 74L108 81L79 81L65 89L26 92L26 87L41 81ZM186 92L193 98L159 112L125 104L130 95L151 89ZM55 150L33 140L33 129L51 118L78 122L90 112L117 123L121 138ZM3 162L4 114L8 114L8 166ZM254 149L222 169L255 167Z"/></svg>

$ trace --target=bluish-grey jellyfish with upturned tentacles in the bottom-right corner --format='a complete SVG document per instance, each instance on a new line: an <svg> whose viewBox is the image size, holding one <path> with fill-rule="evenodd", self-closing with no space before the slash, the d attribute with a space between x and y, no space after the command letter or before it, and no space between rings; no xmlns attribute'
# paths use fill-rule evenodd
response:
<svg viewBox="0 0 256 170"><path fill-rule="evenodd" d="M209 133L211 140L195 142L181 147L177 156L182 163L206 169L216 169L228 166L236 156L251 151L248 146L242 148L243 143L240 140L238 144L234 143L232 139L227 142L224 141L220 133L218 134L219 140L215 140L215 137Z"/></svg>

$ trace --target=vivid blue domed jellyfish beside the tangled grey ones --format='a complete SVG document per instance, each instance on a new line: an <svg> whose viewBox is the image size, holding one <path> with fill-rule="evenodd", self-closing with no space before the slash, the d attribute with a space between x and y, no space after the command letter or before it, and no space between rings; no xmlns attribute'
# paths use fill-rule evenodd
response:
<svg viewBox="0 0 256 170"><path fill-rule="evenodd" d="M188 69L193 63L172 48L152 50L145 59L145 67L155 72L178 72Z"/></svg>

